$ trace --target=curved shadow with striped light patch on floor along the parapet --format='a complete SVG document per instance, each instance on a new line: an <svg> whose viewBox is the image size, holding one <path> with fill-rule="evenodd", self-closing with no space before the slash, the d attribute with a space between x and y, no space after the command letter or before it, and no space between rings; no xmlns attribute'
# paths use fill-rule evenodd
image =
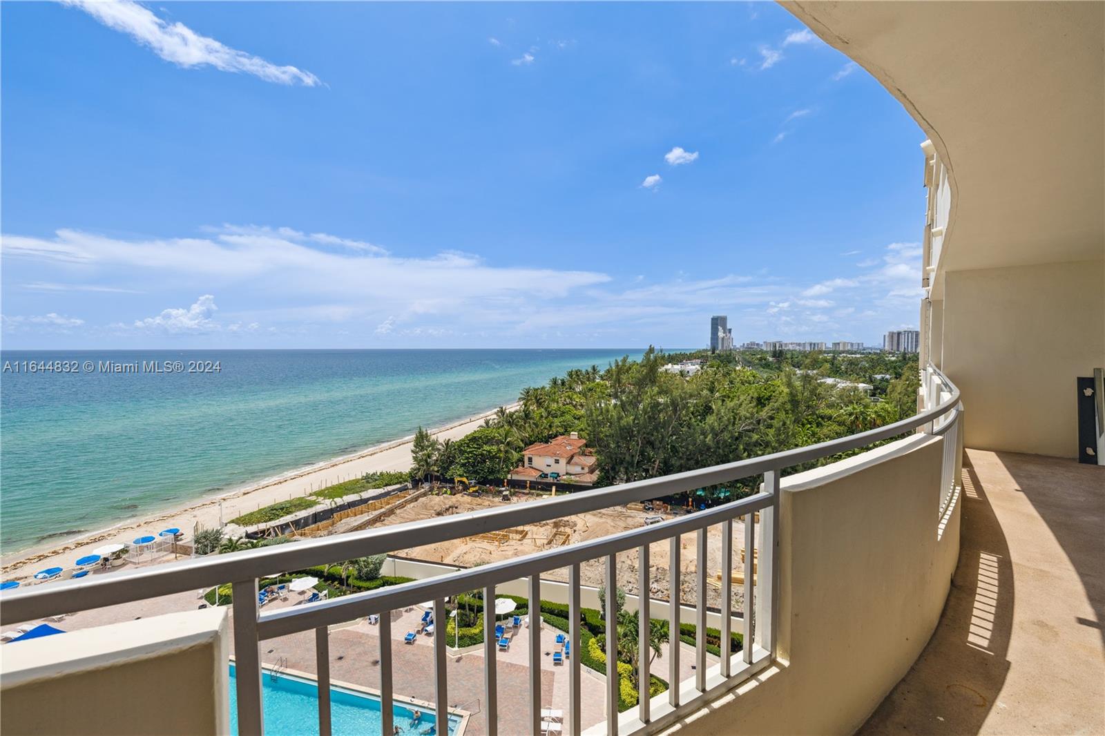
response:
<svg viewBox="0 0 1105 736"><path fill-rule="evenodd" d="M1013 570L978 475L964 458L959 561L936 632L857 734L978 733L1009 673Z"/></svg>

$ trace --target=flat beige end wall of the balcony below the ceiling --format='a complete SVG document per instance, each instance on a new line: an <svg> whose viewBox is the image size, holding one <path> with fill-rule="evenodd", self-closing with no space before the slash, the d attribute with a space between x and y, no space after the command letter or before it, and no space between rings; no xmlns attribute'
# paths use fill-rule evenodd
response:
<svg viewBox="0 0 1105 736"><path fill-rule="evenodd" d="M1076 456L1075 379L1105 367L1105 261L947 273L941 358L968 446Z"/></svg>

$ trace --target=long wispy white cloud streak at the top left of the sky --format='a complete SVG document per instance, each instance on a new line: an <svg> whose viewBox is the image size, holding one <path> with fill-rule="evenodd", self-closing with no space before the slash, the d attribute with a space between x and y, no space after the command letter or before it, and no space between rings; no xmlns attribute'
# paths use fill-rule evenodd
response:
<svg viewBox="0 0 1105 736"><path fill-rule="evenodd" d="M223 72L252 74L265 82L277 84L303 84L308 87L320 84L317 76L295 66L277 66L271 62L230 49L214 39L200 35L182 23L167 23L149 9L134 0L62 0L65 4L80 8L104 25L128 34L139 44L149 48L167 62L190 69L213 66Z"/></svg>

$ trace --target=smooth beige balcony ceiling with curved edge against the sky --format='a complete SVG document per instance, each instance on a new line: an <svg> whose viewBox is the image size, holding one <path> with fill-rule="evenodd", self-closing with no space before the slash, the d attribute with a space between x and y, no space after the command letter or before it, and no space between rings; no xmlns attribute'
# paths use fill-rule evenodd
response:
<svg viewBox="0 0 1105 736"><path fill-rule="evenodd" d="M1105 3L781 4L897 97L950 168L941 271L1105 256Z"/></svg>

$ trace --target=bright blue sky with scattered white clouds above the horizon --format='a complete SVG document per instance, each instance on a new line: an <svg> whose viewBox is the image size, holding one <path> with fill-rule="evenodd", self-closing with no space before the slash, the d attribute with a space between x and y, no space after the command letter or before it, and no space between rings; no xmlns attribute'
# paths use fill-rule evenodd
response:
<svg viewBox="0 0 1105 736"><path fill-rule="evenodd" d="M0 13L7 348L916 326L924 135L778 6Z"/></svg>

